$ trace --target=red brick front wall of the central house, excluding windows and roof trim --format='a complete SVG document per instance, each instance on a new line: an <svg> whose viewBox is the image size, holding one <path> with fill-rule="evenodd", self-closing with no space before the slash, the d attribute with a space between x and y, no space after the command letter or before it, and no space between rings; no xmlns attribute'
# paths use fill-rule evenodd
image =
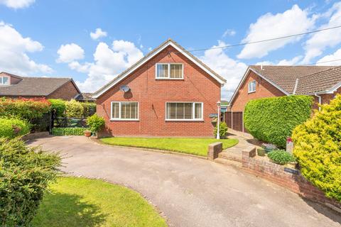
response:
<svg viewBox="0 0 341 227"><path fill-rule="evenodd" d="M109 135L151 136L212 136L210 114L217 113L220 83L168 46L167 50L139 67L126 79L100 96L97 114L104 116ZM168 55L167 51L170 52ZM156 62L183 63L184 79L155 79ZM131 92L124 95L121 85L129 85ZM139 101L139 121L110 121L111 101ZM203 103L203 121L165 121L166 101L200 101Z"/></svg>

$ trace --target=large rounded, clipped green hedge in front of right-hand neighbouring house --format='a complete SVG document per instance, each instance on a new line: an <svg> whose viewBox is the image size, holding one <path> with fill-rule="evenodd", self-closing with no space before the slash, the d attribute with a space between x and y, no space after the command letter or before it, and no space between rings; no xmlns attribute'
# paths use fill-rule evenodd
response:
<svg viewBox="0 0 341 227"><path fill-rule="evenodd" d="M310 96L283 96L251 100L245 106L244 126L255 138L286 146L293 128L310 118L313 99Z"/></svg>

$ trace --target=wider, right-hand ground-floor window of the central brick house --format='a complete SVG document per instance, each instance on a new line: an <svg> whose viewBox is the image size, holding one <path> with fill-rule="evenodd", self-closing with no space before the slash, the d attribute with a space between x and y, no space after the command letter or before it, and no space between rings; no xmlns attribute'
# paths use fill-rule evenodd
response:
<svg viewBox="0 0 341 227"><path fill-rule="evenodd" d="M202 120L201 102L167 102L166 120Z"/></svg>

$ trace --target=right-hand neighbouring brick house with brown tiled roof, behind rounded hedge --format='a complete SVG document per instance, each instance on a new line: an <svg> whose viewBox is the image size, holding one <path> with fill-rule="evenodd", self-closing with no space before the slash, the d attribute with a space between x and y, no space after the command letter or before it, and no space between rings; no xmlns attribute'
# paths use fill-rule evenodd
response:
<svg viewBox="0 0 341 227"><path fill-rule="evenodd" d="M341 67L251 65L229 101L227 125L244 131L243 111L248 101L274 96L305 94L314 108L341 93Z"/></svg>

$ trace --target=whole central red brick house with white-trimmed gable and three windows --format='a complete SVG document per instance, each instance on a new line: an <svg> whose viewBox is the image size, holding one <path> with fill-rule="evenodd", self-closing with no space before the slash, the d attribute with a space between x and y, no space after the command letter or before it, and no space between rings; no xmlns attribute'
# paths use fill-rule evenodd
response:
<svg viewBox="0 0 341 227"><path fill-rule="evenodd" d="M213 135L225 79L168 39L93 94L109 135Z"/></svg>

